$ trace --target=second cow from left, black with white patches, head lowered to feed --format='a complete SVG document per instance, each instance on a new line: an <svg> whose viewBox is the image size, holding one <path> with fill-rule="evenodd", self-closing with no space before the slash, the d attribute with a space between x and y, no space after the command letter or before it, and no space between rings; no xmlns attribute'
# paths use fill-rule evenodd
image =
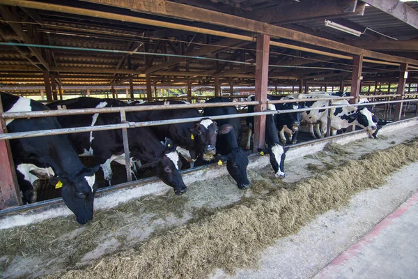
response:
<svg viewBox="0 0 418 279"><path fill-rule="evenodd" d="M48 106L56 110L59 106L65 106L67 109L81 109L123 107L127 104L114 99L82 97L58 101ZM118 113L59 116L57 119L65 128L121 123L121 116ZM129 122L143 121L137 112L127 112L126 120ZM75 133L70 134L69 137L79 156L93 156L100 162L104 179L107 181L111 180L110 163L112 161L125 164L121 129ZM179 160L178 152L174 149L171 140L167 139L164 145L161 144L148 127L127 129L127 137L132 161L139 161L143 165L155 167L157 176L164 183L173 187L176 195L186 192L187 188L180 176L181 160Z"/></svg>

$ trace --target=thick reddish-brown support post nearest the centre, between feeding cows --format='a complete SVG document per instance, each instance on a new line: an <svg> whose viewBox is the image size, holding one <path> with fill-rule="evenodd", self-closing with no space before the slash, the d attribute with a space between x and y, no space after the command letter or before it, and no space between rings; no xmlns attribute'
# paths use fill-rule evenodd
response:
<svg viewBox="0 0 418 279"><path fill-rule="evenodd" d="M270 50L270 36L259 35L256 47L256 96L255 100L260 105L254 107L255 112L263 112L267 107L268 89L268 56ZM254 148L264 148L265 142L265 115L254 116Z"/></svg>

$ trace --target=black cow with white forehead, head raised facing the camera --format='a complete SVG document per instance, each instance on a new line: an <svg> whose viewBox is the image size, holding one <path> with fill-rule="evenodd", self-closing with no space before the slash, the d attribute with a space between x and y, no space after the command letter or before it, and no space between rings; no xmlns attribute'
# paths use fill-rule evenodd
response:
<svg viewBox="0 0 418 279"><path fill-rule="evenodd" d="M182 101L132 103L131 105L181 105ZM150 110L141 112L144 121L158 121L166 119L184 119L201 117L195 108L181 110ZM218 133L217 123L209 118L198 122L166 124L150 126L150 129L159 140L169 137L177 145L178 152L193 166L200 156L210 161L216 153L216 139Z"/></svg>

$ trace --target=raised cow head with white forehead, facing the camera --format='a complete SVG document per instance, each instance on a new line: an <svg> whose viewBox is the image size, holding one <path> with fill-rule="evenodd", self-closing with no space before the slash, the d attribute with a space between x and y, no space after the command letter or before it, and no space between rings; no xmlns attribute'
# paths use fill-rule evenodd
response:
<svg viewBox="0 0 418 279"><path fill-rule="evenodd" d="M209 118L201 119L196 123L196 128L190 129L191 138L194 140L194 146L197 146L200 154L203 154L203 160L213 160L216 153L216 137L218 133L217 124Z"/></svg>

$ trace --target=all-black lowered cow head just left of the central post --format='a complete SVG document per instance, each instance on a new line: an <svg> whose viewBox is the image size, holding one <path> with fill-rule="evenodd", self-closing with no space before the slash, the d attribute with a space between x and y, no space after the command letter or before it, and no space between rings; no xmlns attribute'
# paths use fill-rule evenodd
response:
<svg viewBox="0 0 418 279"><path fill-rule="evenodd" d="M219 134L226 135L227 133L235 133L233 127L229 124L224 124L219 128ZM235 139L235 135L233 136ZM229 174L237 182L240 189L249 188L251 183L247 177L247 165L249 163L248 156L251 151L243 151L240 147L231 149L227 156L218 156L217 160L226 161L226 169Z"/></svg>

